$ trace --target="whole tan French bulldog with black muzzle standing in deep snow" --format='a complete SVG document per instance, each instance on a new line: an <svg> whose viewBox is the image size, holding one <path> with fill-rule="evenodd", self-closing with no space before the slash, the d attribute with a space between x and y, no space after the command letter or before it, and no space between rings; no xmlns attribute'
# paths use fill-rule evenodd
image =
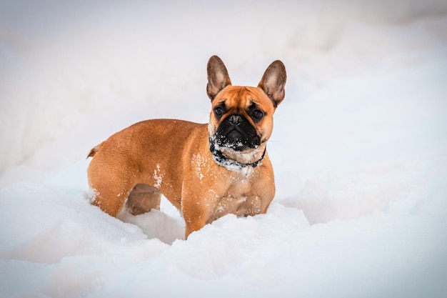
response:
<svg viewBox="0 0 447 298"><path fill-rule="evenodd" d="M161 194L181 210L186 238L225 214L266 213L275 194L266 143L284 98L286 69L274 61L258 87L231 86L218 56L208 62L209 124L136 123L91 149L93 204L116 216L159 209Z"/></svg>

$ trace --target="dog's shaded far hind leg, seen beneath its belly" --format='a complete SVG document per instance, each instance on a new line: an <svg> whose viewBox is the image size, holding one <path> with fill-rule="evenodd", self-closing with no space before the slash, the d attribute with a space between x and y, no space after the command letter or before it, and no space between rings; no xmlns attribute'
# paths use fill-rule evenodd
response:
<svg viewBox="0 0 447 298"><path fill-rule="evenodd" d="M151 209L160 209L161 192L147 184L136 184L126 202L126 210L139 215L151 211Z"/></svg>

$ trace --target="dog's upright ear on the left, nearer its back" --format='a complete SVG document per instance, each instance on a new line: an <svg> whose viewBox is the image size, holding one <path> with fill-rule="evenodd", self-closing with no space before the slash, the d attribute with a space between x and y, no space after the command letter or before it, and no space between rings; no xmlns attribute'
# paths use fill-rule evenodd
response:
<svg viewBox="0 0 447 298"><path fill-rule="evenodd" d="M206 67L208 72L208 84L206 84L206 94L208 94L211 101L214 97L224 89L226 86L231 85L230 76L224 65L224 62L218 56L212 56L208 61Z"/></svg>

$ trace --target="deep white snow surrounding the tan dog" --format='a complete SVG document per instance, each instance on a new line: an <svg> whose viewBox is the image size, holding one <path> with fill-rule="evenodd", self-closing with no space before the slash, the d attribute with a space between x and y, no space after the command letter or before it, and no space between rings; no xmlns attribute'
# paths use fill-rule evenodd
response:
<svg viewBox="0 0 447 298"><path fill-rule="evenodd" d="M29 2L29 3L28 3ZM86 154L286 64L267 214L109 217ZM2 1L0 297L446 297L445 1Z"/></svg>

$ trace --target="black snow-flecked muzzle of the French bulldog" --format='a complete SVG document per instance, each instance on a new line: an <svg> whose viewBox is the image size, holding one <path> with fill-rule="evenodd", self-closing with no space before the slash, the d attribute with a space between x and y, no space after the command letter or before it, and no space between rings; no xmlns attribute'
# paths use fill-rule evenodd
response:
<svg viewBox="0 0 447 298"><path fill-rule="evenodd" d="M216 144L226 146L235 151L255 149L261 144L256 129L242 114L231 114L219 125L216 135Z"/></svg>

